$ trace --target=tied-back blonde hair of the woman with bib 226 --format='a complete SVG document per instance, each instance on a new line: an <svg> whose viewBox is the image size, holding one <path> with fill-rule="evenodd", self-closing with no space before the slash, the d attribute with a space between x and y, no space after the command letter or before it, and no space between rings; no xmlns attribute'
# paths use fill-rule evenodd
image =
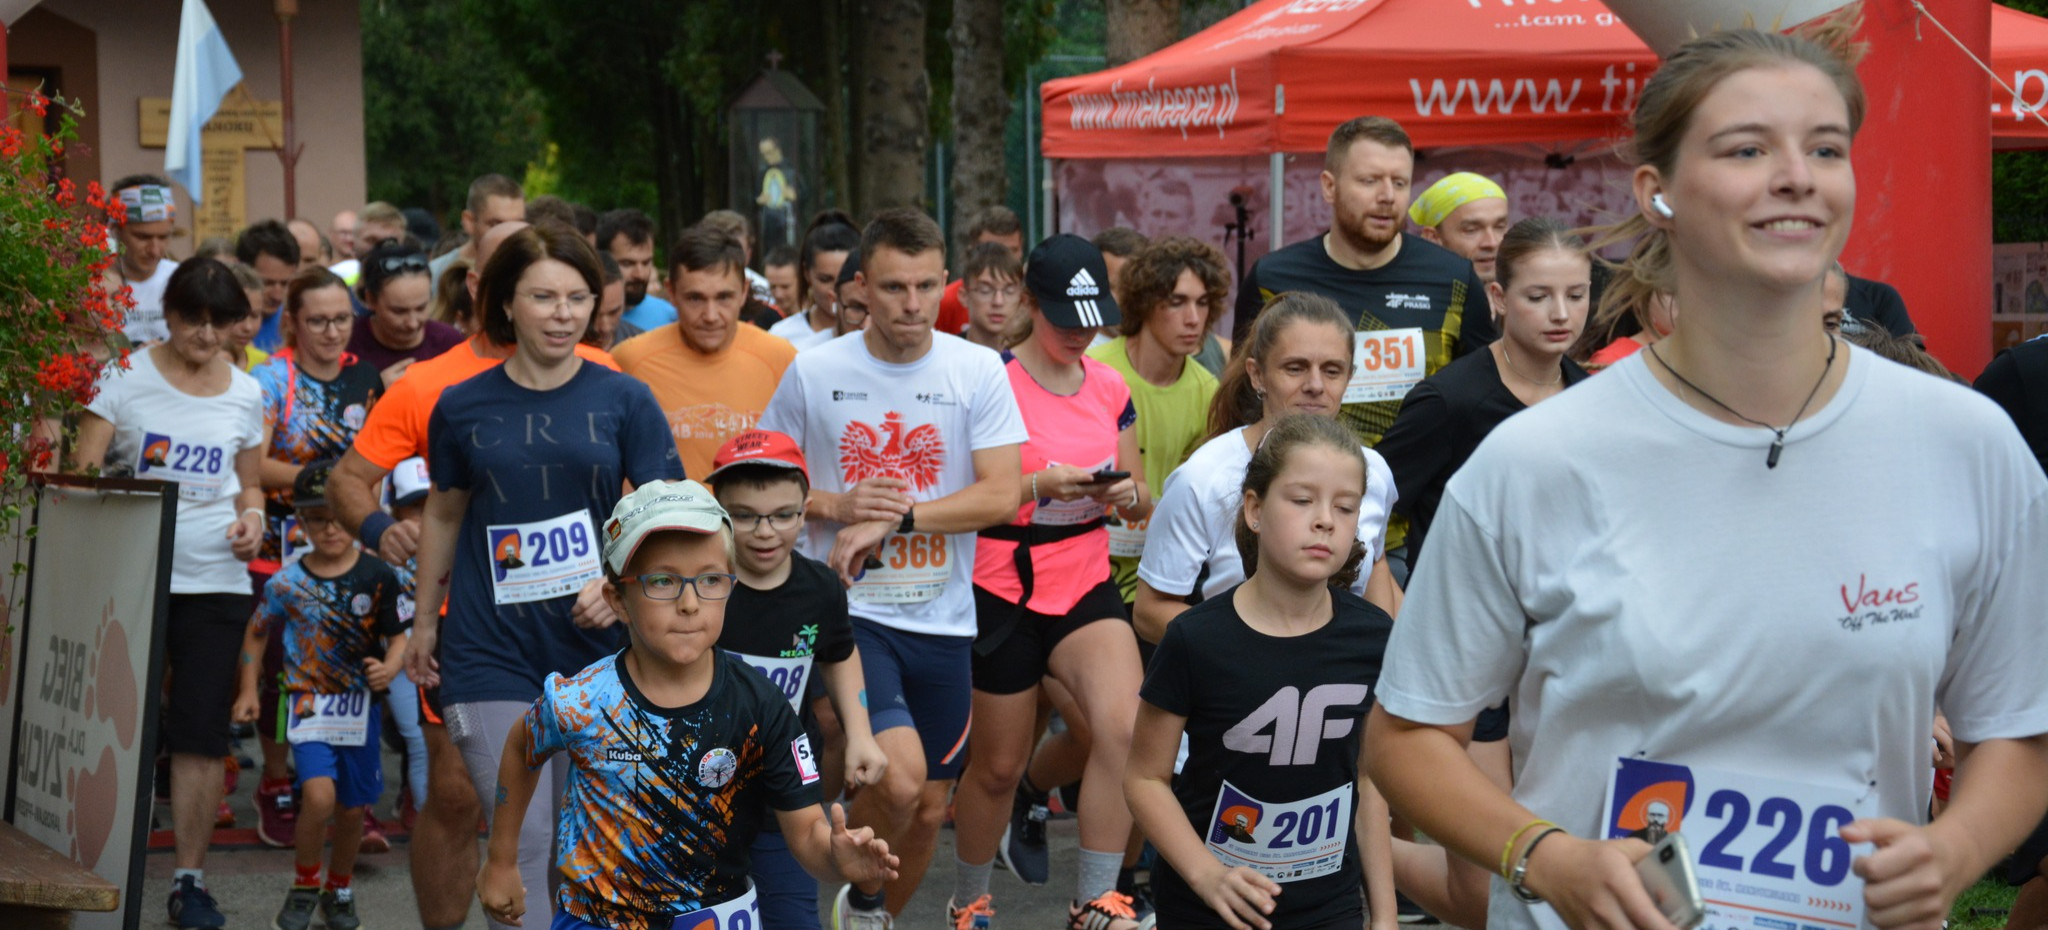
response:
<svg viewBox="0 0 2048 930"><path fill-rule="evenodd" d="M1679 45L1642 86L1636 111L1628 117L1630 137L1618 147L1622 162L1653 166L1669 176L1677 168L1677 150L1700 100L1724 78L1757 68L1808 66L1821 72L1841 92L1853 137L1864 125L1868 107L1864 84L1855 78L1855 61L1868 51L1864 43L1851 39L1858 27L1862 27L1860 2L1800 27L1794 35L1745 25ZM1587 330L1608 332L1622 313L1632 313L1649 330L1651 299L1659 291L1673 289L1671 234L1651 225L1640 213L1587 231L1593 236L1593 252L1628 244L1628 258L1602 260L1614 268L1614 279L1602 293L1599 309Z"/></svg>

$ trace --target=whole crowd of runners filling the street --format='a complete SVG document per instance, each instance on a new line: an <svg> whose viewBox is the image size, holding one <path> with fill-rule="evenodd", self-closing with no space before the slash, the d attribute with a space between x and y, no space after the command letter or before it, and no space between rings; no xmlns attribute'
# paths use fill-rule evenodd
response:
<svg viewBox="0 0 2048 930"><path fill-rule="evenodd" d="M1835 926L2001 862L2048 924L2048 340L1972 391L1837 262L1841 35L1673 53L1606 229L1343 123L1229 328L1214 246L1006 209L756 262L489 174L434 242L373 203L172 260L117 182L145 348L70 461L178 485L172 924L225 924L238 723L279 930L358 926L379 817L436 930L987 930L997 864L1069 930L1671 930L1638 864L1720 813L1620 803L1657 766L1815 809L1817 881L1853 844Z"/></svg>

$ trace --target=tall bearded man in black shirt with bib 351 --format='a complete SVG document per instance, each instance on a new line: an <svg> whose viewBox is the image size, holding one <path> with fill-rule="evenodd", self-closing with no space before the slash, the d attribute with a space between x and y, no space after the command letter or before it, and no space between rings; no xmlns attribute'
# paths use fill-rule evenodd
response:
<svg viewBox="0 0 2048 930"><path fill-rule="evenodd" d="M1237 289L1237 338L1286 291L1319 293L1356 322L1360 361L1341 420L1374 445L1401 397L1452 358L1493 342L1493 313L1473 262L1401 231L1415 145L1401 123L1358 117L1329 133L1323 201L1329 231L1270 252Z"/></svg>

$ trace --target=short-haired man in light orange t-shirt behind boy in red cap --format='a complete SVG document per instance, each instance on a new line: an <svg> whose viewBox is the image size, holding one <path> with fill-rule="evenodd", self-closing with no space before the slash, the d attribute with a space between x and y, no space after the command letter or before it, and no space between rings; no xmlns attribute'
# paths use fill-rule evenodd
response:
<svg viewBox="0 0 2048 930"><path fill-rule="evenodd" d="M711 471L727 438L752 428L797 348L739 324L748 299L745 248L731 234L692 225L670 248L668 293L676 322L612 348L618 371L653 387L686 475Z"/></svg>

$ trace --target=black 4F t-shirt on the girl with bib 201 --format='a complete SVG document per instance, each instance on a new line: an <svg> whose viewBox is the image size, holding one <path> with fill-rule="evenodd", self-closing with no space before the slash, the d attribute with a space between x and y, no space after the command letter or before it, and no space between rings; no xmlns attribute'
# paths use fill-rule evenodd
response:
<svg viewBox="0 0 2048 930"><path fill-rule="evenodd" d="M1276 930L1358 924L1358 744L1380 680L1380 658L1395 621L1350 592L1331 592L1333 617L1315 633L1270 637L1237 617L1237 588L1208 598L1167 625L1145 686L1149 705L1188 719L1188 762L1174 776L1174 797L1196 836L1241 830L1274 850L1300 848L1309 815L1266 815L1341 789L1352 817L1337 871L1282 883L1272 914ZM1307 719L1305 719L1307 717ZM1311 733L1321 733L1315 737ZM1225 783L1245 803L1219 805ZM1323 836L1327 836L1323 823ZM1239 834L1243 836L1243 834ZM1153 869L1159 926L1227 928L1163 858Z"/></svg>

